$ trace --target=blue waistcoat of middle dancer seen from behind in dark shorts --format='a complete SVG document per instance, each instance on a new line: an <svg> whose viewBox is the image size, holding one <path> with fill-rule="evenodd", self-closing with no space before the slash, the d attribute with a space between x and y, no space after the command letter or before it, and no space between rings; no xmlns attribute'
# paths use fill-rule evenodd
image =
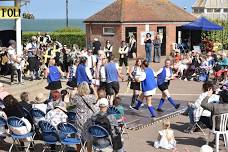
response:
<svg viewBox="0 0 228 152"><path fill-rule="evenodd" d="M107 82L118 82L118 71L115 63L105 65L105 74Z"/></svg>

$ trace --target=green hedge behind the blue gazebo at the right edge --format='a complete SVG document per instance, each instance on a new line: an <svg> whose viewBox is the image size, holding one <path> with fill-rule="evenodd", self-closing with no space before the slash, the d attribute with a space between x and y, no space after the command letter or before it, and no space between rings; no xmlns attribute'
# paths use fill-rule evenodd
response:
<svg viewBox="0 0 228 152"><path fill-rule="evenodd" d="M204 31L202 38L206 38L213 42L219 42L223 44L223 49L228 50L228 21L227 20L214 20L213 22L223 26L222 31Z"/></svg>

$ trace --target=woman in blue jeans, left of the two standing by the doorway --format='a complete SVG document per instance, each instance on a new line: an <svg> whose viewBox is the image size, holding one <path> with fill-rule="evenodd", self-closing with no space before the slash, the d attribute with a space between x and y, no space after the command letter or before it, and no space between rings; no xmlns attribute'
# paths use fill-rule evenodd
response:
<svg viewBox="0 0 228 152"><path fill-rule="evenodd" d="M152 40L151 40L151 34L147 33L146 34L146 38L144 40L145 43L145 50L146 50L146 61L148 63L152 62L152 55L151 55L151 51L152 51Z"/></svg>

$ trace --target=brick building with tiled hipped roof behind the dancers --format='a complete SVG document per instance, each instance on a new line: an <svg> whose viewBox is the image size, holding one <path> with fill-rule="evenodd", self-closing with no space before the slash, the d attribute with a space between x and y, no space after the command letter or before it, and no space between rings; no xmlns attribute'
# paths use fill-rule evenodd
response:
<svg viewBox="0 0 228 152"><path fill-rule="evenodd" d="M180 26L194 19L194 16L169 0L116 0L84 22L87 44L91 44L95 37L103 46L106 40L110 40L114 54L117 54L120 42L128 42L129 34L134 34L137 56L144 57L143 40L147 32L160 35L162 55L168 55L172 43L181 38L181 32L178 32Z"/></svg>

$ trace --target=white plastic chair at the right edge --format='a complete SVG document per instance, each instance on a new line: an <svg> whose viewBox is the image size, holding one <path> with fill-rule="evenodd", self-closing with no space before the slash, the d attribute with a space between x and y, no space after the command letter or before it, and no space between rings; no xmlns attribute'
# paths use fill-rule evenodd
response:
<svg viewBox="0 0 228 152"><path fill-rule="evenodd" d="M216 152L219 152L219 137L221 134L223 135L223 138L224 138L225 147L228 146L228 129L227 129L228 113L221 114L221 115L214 115L212 119L213 119L213 128L209 132L208 140L210 139L211 133L215 134ZM219 130L217 130L218 128L217 129L215 128L216 122L218 122L218 120L220 120ZM208 140L207 140L207 144L209 142Z"/></svg>

